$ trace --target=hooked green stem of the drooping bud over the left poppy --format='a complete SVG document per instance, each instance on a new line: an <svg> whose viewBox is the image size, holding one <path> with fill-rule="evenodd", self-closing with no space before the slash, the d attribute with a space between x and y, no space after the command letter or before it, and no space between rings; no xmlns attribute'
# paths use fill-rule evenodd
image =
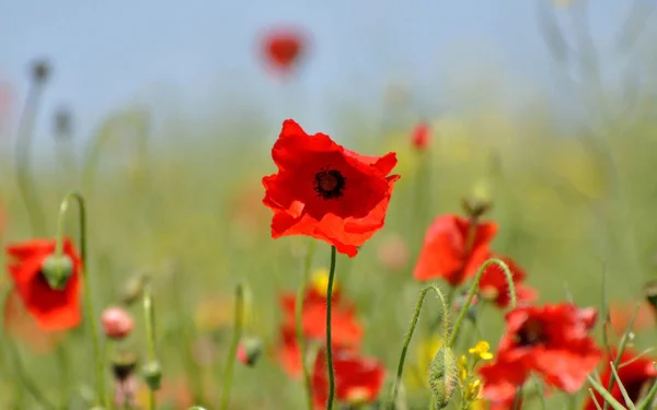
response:
<svg viewBox="0 0 657 410"><path fill-rule="evenodd" d="M64 221L66 213L69 209L70 202L78 202L79 209L79 225L80 225L80 257L82 258L82 268L80 276L82 280L82 293L84 294L84 304L87 305L87 318L89 320L89 327L91 329L92 342L93 342L93 355L95 361L96 372L96 405L102 403L110 408L110 398L105 391L105 377L104 377L104 361L101 349L100 338L100 326L94 309L94 298L91 292L91 285L89 283L89 276L87 272L88 267L88 255L87 255L87 208L84 204L84 198L79 192L70 192L64 197L61 204L59 206L59 219L57 220L57 237L55 245L55 255L61 257L64 253Z"/></svg>

